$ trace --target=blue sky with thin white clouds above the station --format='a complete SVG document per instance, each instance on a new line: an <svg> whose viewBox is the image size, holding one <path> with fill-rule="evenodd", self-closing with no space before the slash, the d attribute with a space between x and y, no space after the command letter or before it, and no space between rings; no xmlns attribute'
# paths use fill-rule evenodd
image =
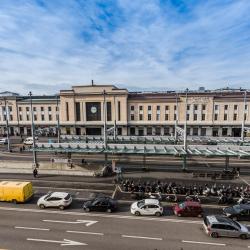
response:
<svg viewBox="0 0 250 250"><path fill-rule="evenodd" d="M249 0L0 0L0 91L250 88Z"/></svg>

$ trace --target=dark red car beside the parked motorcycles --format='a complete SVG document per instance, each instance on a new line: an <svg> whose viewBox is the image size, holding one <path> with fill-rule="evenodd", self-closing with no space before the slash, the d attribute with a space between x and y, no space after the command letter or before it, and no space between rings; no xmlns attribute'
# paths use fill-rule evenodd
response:
<svg viewBox="0 0 250 250"><path fill-rule="evenodd" d="M177 216L194 216L194 217L202 217L203 209L201 207L200 202L196 201L184 201L181 203L177 203L173 207L173 211Z"/></svg>

